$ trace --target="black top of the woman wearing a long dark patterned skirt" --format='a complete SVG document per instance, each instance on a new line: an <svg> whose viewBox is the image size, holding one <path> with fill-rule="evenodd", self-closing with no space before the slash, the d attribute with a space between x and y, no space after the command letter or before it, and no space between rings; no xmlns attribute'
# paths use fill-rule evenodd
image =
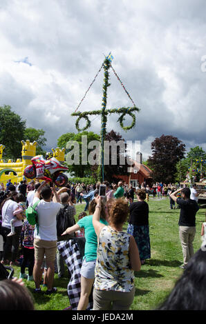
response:
<svg viewBox="0 0 206 324"><path fill-rule="evenodd" d="M145 201L131 203L129 206L129 224L149 225L149 205Z"/></svg>

